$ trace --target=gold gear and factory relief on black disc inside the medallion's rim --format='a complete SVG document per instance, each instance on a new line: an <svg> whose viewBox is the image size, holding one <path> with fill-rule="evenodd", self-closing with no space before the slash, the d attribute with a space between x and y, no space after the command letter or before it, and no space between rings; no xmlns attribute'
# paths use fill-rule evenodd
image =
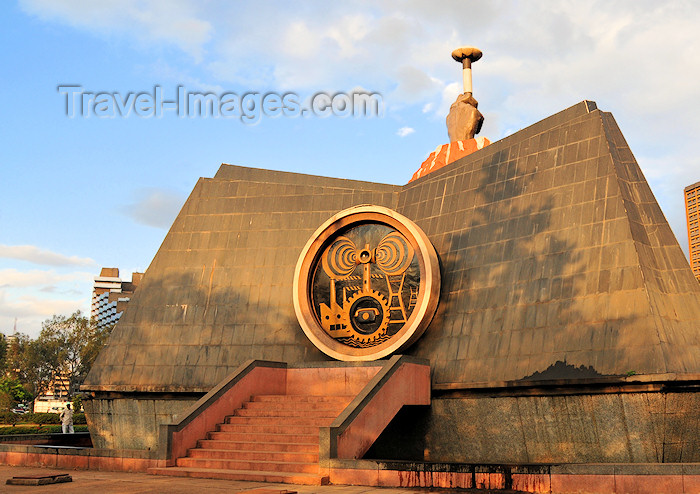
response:
<svg viewBox="0 0 700 494"><path fill-rule="evenodd" d="M312 299L323 330L357 348L395 335L416 306L420 269L411 243L382 224L351 227L321 253Z"/></svg>

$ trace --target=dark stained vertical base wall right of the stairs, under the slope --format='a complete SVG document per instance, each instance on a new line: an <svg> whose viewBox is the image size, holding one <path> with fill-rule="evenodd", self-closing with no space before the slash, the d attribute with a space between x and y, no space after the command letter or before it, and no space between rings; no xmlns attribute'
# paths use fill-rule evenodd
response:
<svg viewBox="0 0 700 494"><path fill-rule="evenodd" d="M699 418L696 392L434 397L430 407L402 410L365 458L459 463L700 462Z"/></svg>

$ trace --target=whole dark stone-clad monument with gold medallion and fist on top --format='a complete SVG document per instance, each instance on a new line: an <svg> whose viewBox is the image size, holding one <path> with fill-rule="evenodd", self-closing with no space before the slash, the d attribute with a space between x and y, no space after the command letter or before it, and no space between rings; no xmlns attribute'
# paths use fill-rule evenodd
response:
<svg viewBox="0 0 700 494"><path fill-rule="evenodd" d="M466 72L480 52L456 54ZM450 139L479 129L466 89ZM615 119L583 101L407 185L221 165L85 408L96 446L155 451L250 359L349 375L401 352L429 362L430 405L350 458L698 462L698 321L700 285Z"/></svg>

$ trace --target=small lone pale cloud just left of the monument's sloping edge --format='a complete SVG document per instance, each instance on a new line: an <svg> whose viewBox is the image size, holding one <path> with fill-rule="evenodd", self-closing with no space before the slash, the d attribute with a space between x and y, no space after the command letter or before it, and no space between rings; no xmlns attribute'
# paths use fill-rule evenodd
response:
<svg viewBox="0 0 700 494"><path fill-rule="evenodd" d="M185 202L182 194L168 189L141 188L133 196L134 202L122 212L137 223L156 228L170 228Z"/></svg>

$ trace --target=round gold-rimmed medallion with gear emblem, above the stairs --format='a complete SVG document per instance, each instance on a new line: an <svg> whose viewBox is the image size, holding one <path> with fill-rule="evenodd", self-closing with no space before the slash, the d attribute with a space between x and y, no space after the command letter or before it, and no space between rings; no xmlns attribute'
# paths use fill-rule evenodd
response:
<svg viewBox="0 0 700 494"><path fill-rule="evenodd" d="M376 360L416 341L440 298L428 237L381 206L346 209L311 236L294 273L294 310L311 342L338 360Z"/></svg>

